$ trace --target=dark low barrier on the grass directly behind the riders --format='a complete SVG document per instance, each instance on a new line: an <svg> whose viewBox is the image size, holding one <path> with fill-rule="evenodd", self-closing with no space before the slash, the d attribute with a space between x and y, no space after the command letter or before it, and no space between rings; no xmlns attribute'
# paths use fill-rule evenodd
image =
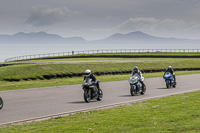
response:
<svg viewBox="0 0 200 133"><path fill-rule="evenodd" d="M155 72L164 72L166 69L144 69L141 70L142 73L155 73ZM174 68L174 71L196 71L200 70L200 68ZM94 72L95 75L101 76L101 75L120 75L120 74L131 74L132 70L122 70L122 71L104 71L104 72ZM50 80L50 79L56 79L56 78L73 78L73 77L81 77L84 73L65 73L65 74L50 74L50 75L43 75L42 77L31 77L31 78L22 78L22 79L4 79L5 81L10 82L19 82L21 80Z"/></svg>

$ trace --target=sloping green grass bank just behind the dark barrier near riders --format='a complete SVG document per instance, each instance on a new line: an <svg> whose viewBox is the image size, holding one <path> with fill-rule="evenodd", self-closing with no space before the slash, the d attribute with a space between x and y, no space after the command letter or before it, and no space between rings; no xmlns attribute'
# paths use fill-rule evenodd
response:
<svg viewBox="0 0 200 133"><path fill-rule="evenodd" d="M161 62L89 62L89 63L41 63L0 67L0 81L11 78L42 77L49 74L82 73L86 69L92 72L132 70L133 66L143 69L199 68L200 59L156 59Z"/></svg>

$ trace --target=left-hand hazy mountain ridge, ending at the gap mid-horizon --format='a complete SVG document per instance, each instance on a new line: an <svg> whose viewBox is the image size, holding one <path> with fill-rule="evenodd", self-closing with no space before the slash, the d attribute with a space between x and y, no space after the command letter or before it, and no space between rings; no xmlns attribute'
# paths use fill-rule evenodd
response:
<svg viewBox="0 0 200 133"><path fill-rule="evenodd" d="M60 43L85 43L81 37L63 38L56 34L46 32L19 32L14 35L0 35L0 43L4 44L60 44Z"/></svg>

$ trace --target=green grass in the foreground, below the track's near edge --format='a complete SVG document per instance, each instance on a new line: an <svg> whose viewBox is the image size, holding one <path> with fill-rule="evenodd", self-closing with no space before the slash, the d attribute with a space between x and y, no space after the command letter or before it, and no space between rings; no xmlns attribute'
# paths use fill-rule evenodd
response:
<svg viewBox="0 0 200 133"><path fill-rule="evenodd" d="M1 128L1 133L200 132L200 91Z"/></svg>

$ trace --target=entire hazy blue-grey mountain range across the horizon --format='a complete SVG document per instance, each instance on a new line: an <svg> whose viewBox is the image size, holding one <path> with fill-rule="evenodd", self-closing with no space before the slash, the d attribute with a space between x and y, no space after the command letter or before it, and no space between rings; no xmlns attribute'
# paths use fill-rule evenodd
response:
<svg viewBox="0 0 200 133"><path fill-rule="evenodd" d="M19 32L14 35L0 35L0 44L200 44L200 40L156 37L140 31L116 33L94 41L86 41L82 37L63 38L46 32Z"/></svg>

